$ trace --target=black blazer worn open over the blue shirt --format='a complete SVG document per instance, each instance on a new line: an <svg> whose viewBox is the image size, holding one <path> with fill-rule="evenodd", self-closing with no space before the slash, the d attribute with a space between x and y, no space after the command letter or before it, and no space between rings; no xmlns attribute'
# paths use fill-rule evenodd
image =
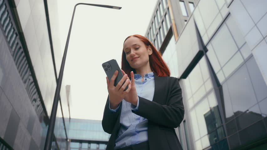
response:
<svg viewBox="0 0 267 150"><path fill-rule="evenodd" d="M139 97L139 108L133 112L148 119L148 143L150 150L182 150L174 128L184 118L182 90L177 78L158 77L154 73L153 101ZM111 134L106 150L113 150L120 128L121 106L115 112L109 110L108 98L102 119L102 127Z"/></svg>

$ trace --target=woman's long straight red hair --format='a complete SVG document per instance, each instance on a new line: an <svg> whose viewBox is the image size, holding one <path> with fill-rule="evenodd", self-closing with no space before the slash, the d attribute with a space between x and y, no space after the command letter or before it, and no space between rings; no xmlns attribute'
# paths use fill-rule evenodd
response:
<svg viewBox="0 0 267 150"><path fill-rule="evenodd" d="M124 42L129 37L138 37L142 42L144 42L146 47L151 46L153 53L149 55L149 65L151 70L156 73L158 77L170 76L170 69L165 63L165 61L162 59L161 53L157 51L156 47L154 47L154 45L146 37L139 34L130 35L124 40ZM131 77L131 71L134 71L135 73L135 69L132 68L126 60L124 50L122 52L122 70L128 75L129 78Z"/></svg>

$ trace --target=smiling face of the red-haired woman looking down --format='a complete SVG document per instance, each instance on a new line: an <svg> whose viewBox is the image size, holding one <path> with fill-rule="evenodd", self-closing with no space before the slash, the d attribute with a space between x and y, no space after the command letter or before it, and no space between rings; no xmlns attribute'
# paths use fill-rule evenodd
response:
<svg viewBox="0 0 267 150"><path fill-rule="evenodd" d="M123 44L123 50L132 68L140 69L149 65L149 55L152 54L152 49L138 37L129 37Z"/></svg>

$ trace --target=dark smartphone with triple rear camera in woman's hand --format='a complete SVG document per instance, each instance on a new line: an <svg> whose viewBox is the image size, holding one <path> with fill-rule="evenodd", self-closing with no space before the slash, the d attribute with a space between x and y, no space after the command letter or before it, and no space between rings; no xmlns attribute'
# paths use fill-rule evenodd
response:
<svg viewBox="0 0 267 150"><path fill-rule="evenodd" d="M114 82L114 86L116 87L117 84L120 82L120 80L123 78L123 73L122 73L122 71L121 71L121 69L120 69L120 67L119 67L119 65L118 65L118 63L117 63L117 61L116 61L115 59L112 59L112 60L110 60L110 61L107 61L107 62L105 62L105 63L102 63L102 67L103 67L105 73L107 74L107 78L108 78L109 81L110 81L110 79L112 78L112 76L113 76L113 74L115 73L115 71L116 71L116 70L119 71L118 76L116 77L115 82ZM124 83L125 83L125 81L123 82L123 84L124 84ZM122 85L123 85L123 84L122 84ZM121 87L120 87L120 88L121 88ZM124 89L124 91L127 90L127 88L128 88L128 85L127 85L127 87Z"/></svg>

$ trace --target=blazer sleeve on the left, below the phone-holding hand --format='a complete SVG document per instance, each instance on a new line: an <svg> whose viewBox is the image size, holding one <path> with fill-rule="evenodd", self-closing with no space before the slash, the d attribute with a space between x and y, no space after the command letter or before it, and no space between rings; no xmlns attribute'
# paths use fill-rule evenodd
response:
<svg viewBox="0 0 267 150"><path fill-rule="evenodd" d="M111 134L113 131L113 128L116 124L116 120L119 116L119 112L120 112L120 108L121 108L121 104L120 104L120 108L116 111L116 112L112 112L109 109L109 96L107 97L107 103L104 109L104 114L103 114L103 119L102 119L102 127L103 130L106 133Z"/></svg>

